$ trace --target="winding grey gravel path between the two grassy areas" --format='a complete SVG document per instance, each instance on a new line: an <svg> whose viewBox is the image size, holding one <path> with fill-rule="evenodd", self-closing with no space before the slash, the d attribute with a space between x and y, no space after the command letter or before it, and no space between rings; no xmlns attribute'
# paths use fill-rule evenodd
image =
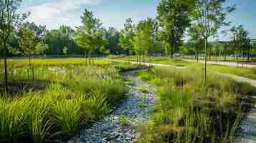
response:
<svg viewBox="0 0 256 143"><path fill-rule="evenodd" d="M67 143L137 142L140 136L138 126L149 119L148 112L154 107L155 89L138 80L136 71L127 72L123 76L131 79L133 85L128 86L126 99L120 107L95 122L92 127L78 132ZM148 92L139 92L141 87L148 89Z"/></svg>

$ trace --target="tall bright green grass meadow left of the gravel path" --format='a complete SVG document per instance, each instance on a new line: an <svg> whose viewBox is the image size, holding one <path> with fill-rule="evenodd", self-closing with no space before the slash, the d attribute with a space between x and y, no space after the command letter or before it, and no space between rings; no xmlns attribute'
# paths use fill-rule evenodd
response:
<svg viewBox="0 0 256 143"><path fill-rule="evenodd" d="M103 59L9 61L9 93L1 89L0 142L60 142L97 121L125 97L120 71L137 69ZM1 77L3 72L1 72ZM1 85L3 87L3 85Z"/></svg>

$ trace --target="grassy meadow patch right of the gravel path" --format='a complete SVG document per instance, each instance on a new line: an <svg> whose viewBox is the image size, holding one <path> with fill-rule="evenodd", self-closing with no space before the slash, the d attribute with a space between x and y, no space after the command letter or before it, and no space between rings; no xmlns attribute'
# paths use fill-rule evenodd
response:
<svg viewBox="0 0 256 143"><path fill-rule="evenodd" d="M195 68L142 71L138 77L158 91L156 107L141 127L139 142L235 142L242 113L250 109L245 97L256 90L208 73L204 83L202 71Z"/></svg>

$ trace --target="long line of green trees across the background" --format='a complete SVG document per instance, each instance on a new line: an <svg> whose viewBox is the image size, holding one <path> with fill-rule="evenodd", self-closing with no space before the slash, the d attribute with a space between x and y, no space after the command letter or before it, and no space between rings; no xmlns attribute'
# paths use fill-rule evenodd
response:
<svg viewBox="0 0 256 143"><path fill-rule="evenodd" d="M219 28L230 24L229 21L225 21L225 17L234 11L235 6L224 7L224 2L224 0L161 0L156 9L155 19L147 18L134 24L133 20L128 18L120 31L114 27L106 29L100 19L87 9L81 16L82 25L75 28L62 25L59 29L47 30L46 26L34 22L22 23L26 18L24 16L20 21L22 24L10 33L6 43L10 48L6 52L9 55L24 56L22 50L16 52L16 49L22 49L19 44L20 31L29 29L34 33L35 43L40 41L38 44L45 46L45 50L40 54L47 55L162 53L172 57L177 52L185 51L193 54L202 51L205 53L204 44L207 43L205 41L210 37L218 36ZM228 33L227 30L222 32ZM186 41L185 34L188 37ZM247 44L245 39L248 39L248 32L242 26L232 27L229 35L231 40L237 41L235 45L238 51L245 49L241 47ZM1 50L1 53L4 54L4 50Z"/></svg>

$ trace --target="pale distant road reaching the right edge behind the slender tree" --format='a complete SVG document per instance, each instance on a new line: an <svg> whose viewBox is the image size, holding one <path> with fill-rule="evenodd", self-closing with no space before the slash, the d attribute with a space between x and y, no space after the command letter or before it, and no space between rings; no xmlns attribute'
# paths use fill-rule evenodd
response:
<svg viewBox="0 0 256 143"><path fill-rule="evenodd" d="M184 61L190 61L190 62L196 62L196 60L193 59L183 59ZM199 60L200 63L204 63L204 61ZM233 67L243 67L243 68L256 68L256 65L254 64L242 64L242 63L235 63L235 62L229 62L229 61L207 61L207 64L219 64L223 66L233 66Z"/></svg>

